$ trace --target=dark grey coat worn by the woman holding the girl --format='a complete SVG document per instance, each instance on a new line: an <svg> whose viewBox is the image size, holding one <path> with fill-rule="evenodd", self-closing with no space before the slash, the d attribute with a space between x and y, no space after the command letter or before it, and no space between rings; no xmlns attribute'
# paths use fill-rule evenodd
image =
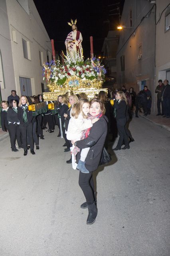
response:
<svg viewBox="0 0 170 256"><path fill-rule="evenodd" d="M95 171L101 159L101 153L107 136L107 122L106 116L102 116L97 122L93 124L90 129L89 136L84 140L78 140L76 146L80 149L90 147L90 150L85 159L85 167L89 172ZM80 159L80 152L77 153L77 163Z"/></svg>

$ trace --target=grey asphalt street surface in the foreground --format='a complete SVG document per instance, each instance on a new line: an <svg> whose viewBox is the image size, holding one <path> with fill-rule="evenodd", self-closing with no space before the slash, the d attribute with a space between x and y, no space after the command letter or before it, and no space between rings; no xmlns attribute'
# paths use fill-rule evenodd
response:
<svg viewBox="0 0 170 256"><path fill-rule="evenodd" d="M57 128L36 155L1 140L0 256L170 256L170 132L142 117L129 128L130 149L94 173L93 225Z"/></svg>

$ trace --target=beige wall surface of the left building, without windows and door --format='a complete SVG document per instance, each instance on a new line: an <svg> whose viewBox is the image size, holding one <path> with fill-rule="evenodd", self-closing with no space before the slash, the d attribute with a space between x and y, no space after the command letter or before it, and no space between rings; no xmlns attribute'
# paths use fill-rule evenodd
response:
<svg viewBox="0 0 170 256"><path fill-rule="evenodd" d="M16 0L6 0L10 37L12 30L16 33L16 42L11 40L12 57L16 88L20 96L19 77L31 78L32 95L42 93L42 66L40 66L39 51L43 52L43 60L47 62L47 50L51 52L49 36L43 26L33 0L28 0L29 14ZM22 38L28 41L30 59L24 58Z"/></svg>

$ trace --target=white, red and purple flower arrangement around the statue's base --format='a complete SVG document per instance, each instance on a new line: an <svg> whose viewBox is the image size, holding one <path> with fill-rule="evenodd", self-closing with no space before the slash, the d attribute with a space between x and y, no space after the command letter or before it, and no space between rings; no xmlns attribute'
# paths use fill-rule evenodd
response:
<svg viewBox="0 0 170 256"><path fill-rule="evenodd" d="M47 84L54 83L59 88L62 88L67 81L70 87L77 87L80 80L103 80L106 74L106 69L99 59L88 59L84 63L83 57L79 54L74 58L65 56L64 64L59 60L52 60L43 66L43 80Z"/></svg>

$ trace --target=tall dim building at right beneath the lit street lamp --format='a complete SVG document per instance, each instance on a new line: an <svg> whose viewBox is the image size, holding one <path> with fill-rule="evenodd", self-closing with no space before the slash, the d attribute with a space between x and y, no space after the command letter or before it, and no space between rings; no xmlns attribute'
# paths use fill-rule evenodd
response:
<svg viewBox="0 0 170 256"><path fill-rule="evenodd" d="M117 50L117 84L136 92L155 87L155 6L147 0L125 0L119 47ZM154 104L152 104L154 111Z"/></svg>

